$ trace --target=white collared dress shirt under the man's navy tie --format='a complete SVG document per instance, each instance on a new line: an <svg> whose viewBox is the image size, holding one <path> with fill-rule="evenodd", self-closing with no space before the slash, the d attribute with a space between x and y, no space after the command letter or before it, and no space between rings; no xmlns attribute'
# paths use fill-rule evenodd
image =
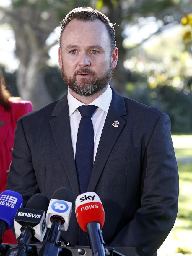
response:
<svg viewBox="0 0 192 256"><path fill-rule="evenodd" d="M97 99L92 101L88 105L95 105L98 108L96 109L95 113L92 115L92 123L93 123L93 130L94 130L94 159L97 153L97 148L99 145L102 129L105 123L105 119L109 110L109 106L112 99L112 90L110 86L108 85L107 90L102 93ZM69 120L70 120L70 126L71 126L71 138L72 138L72 145L73 145L73 153L75 158L75 151L76 151L76 142L77 142L77 132L79 128L79 123L81 120L81 114L78 107L82 105L86 105L80 101L78 101L76 98L74 98L71 93L67 93L67 100L69 105Z"/></svg>

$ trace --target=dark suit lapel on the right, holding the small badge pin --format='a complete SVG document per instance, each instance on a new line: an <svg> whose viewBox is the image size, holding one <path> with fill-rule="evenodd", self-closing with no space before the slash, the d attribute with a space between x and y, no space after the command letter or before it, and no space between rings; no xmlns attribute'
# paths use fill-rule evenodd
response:
<svg viewBox="0 0 192 256"><path fill-rule="evenodd" d="M126 121L121 117L127 114L124 98L113 89L112 92L112 101L102 130L87 191L95 190L111 150L126 124ZM114 127L112 124L117 120L119 125Z"/></svg>

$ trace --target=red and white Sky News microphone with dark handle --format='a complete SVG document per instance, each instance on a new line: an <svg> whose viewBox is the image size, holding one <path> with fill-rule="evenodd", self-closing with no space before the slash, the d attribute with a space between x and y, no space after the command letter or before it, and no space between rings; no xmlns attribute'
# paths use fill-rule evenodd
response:
<svg viewBox="0 0 192 256"><path fill-rule="evenodd" d="M105 256L102 227L105 212L99 196L94 192L79 195L75 201L77 222L83 231L88 233L89 244L93 256Z"/></svg>

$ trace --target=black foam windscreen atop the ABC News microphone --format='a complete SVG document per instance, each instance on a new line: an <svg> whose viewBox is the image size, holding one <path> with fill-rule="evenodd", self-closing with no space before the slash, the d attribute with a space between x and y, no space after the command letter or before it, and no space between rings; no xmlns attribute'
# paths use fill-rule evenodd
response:
<svg viewBox="0 0 192 256"><path fill-rule="evenodd" d="M47 213L47 209L49 206L49 199L43 194L35 194L33 195L26 204L25 208L34 209L34 210L42 210Z"/></svg>

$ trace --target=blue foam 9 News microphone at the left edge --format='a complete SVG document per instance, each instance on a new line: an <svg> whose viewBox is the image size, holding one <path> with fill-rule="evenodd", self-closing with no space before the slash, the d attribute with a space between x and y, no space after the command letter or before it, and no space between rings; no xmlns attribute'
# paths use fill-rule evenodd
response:
<svg viewBox="0 0 192 256"><path fill-rule="evenodd" d="M23 206L22 196L12 190L0 194L0 244L6 229L12 228L19 207Z"/></svg>

